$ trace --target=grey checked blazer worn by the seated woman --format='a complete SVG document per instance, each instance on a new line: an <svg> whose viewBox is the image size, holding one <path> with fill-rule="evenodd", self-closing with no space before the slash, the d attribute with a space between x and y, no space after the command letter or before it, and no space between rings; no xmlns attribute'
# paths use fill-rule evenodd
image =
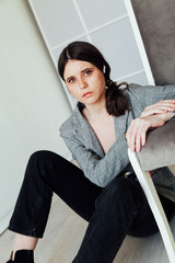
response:
<svg viewBox="0 0 175 263"><path fill-rule="evenodd" d="M114 117L116 142L106 155L78 106L60 127L60 136L84 175L101 187L105 187L129 163L125 133L131 119L140 116L145 106L150 104L161 100L175 99L175 85L142 87L131 83L125 94L131 112L127 111L125 115ZM154 170L153 181L159 193L175 202L175 176L167 168Z"/></svg>

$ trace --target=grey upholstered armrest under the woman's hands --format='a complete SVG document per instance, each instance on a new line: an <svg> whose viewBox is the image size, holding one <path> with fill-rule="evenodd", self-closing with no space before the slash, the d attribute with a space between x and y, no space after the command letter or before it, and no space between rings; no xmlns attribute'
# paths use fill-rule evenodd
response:
<svg viewBox="0 0 175 263"><path fill-rule="evenodd" d="M138 158L143 171L175 164L175 119L148 133Z"/></svg>

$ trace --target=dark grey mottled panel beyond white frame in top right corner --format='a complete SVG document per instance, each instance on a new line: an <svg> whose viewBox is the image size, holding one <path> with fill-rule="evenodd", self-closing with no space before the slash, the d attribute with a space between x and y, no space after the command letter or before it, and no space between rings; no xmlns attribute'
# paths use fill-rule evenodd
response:
<svg viewBox="0 0 175 263"><path fill-rule="evenodd" d="M175 1L131 0L155 84L175 83Z"/></svg>

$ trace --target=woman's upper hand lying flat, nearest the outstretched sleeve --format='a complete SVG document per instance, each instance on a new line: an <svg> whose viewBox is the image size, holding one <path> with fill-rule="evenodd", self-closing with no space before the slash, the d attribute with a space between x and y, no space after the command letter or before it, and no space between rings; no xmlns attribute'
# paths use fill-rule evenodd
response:
<svg viewBox="0 0 175 263"><path fill-rule="evenodd" d="M164 113L174 112L174 111L175 111L175 100L164 100L147 106L140 116L147 117L153 114L164 114Z"/></svg>

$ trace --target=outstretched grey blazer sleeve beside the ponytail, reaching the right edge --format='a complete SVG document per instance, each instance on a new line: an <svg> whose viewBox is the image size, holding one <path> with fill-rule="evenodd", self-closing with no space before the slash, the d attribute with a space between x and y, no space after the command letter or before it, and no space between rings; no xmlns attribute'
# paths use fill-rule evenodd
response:
<svg viewBox="0 0 175 263"><path fill-rule="evenodd" d="M143 110L151 104L154 104L162 100L175 99L175 84L172 85L139 85L129 84L129 92L137 98L142 104ZM130 101L131 106L132 102Z"/></svg>

